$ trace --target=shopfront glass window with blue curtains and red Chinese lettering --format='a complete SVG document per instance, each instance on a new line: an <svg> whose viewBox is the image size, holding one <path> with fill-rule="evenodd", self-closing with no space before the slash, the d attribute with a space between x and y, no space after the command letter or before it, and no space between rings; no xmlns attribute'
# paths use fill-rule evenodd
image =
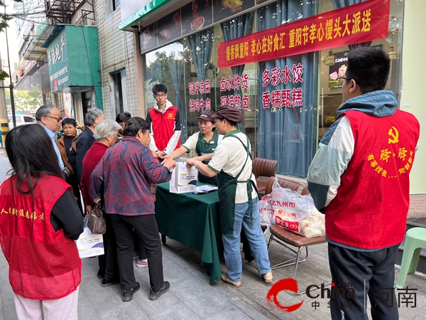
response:
<svg viewBox="0 0 426 320"><path fill-rule="evenodd" d="M214 23L143 54L146 110L155 105L153 85L163 83L168 87L168 100L180 111L183 143L199 131L200 112L206 108L217 110L221 105L234 106L244 113L241 131L249 137L254 156L277 159L279 174L307 176L318 142L334 122L342 104L342 87L337 78L344 74L347 53L361 45L386 51L393 46L400 53L403 1L391 0L390 32L388 38L381 41L222 69L218 68L217 48L224 41L333 11L353 2L280 0L258 5L251 12ZM159 40L151 41L156 26L153 23L144 31L143 50L158 45ZM332 51L332 63L326 65L322 60L329 51ZM386 89L393 90L399 99L399 55L392 62Z"/></svg>

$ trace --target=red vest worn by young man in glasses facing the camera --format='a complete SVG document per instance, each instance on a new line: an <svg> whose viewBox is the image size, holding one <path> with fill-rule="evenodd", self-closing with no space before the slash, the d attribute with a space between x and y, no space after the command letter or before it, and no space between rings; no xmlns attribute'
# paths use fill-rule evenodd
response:
<svg viewBox="0 0 426 320"><path fill-rule="evenodd" d="M158 150L164 151L170 138L175 133L175 122L176 114L178 113L177 107L168 107L164 113L159 112L155 108L149 110L151 115L151 120L153 124L153 136L155 140L155 145ZM173 151L180 147L180 138L178 144ZM168 150L169 151L169 150Z"/></svg>

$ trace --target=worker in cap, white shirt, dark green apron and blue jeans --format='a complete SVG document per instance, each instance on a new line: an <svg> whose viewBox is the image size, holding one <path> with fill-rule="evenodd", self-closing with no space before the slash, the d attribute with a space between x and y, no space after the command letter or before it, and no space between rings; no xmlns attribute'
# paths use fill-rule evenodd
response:
<svg viewBox="0 0 426 320"><path fill-rule="evenodd" d="M243 228L259 273L265 282L272 282L271 264L258 211L256 180L252 174L251 146L249 138L236 129L236 124L243 122L243 114L233 107L223 106L212 114L212 118L224 139L214 154L189 159L187 166L195 166L204 176L219 176L219 215L228 270L221 279L233 287L241 287L240 234ZM209 161L209 164L202 161Z"/></svg>

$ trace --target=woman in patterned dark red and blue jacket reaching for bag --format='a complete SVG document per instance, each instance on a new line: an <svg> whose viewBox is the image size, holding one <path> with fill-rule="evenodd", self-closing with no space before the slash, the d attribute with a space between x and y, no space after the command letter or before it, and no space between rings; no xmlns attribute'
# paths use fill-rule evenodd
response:
<svg viewBox="0 0 426 320"><path fill-rule="evenodd" d="M161 242L150 183L170 181L170 170L176 162L165 159L161 166L146 146L148 140L148 122L140 117L131 118L124 127L123 141L107 150L90 178L92 198L96 201L104 192L104 210L116 235L123 302L131 301L141 287L133 272L133 228L148 256L149 299L158 299L170 288L163 279Z"/></svg>

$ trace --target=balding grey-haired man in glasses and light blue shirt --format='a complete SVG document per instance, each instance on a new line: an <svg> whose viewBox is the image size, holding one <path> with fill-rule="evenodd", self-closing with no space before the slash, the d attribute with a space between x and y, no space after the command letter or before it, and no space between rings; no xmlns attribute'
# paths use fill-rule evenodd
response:
<svg viewBox="0 0 426 320"><path fill-rule="evenodd" d="M42 105L35 112L35 119L37 123L40 124L45 131L48 133L50 139L53 143L53 148L55 149L56 155L58 156L58 162L60 169L64 169L64 163L60 157L60 151L55 142L55 132L59 131L62 127L62 117L60 116L60 111L54 105Z"/></svg>

